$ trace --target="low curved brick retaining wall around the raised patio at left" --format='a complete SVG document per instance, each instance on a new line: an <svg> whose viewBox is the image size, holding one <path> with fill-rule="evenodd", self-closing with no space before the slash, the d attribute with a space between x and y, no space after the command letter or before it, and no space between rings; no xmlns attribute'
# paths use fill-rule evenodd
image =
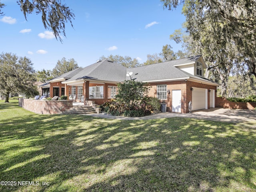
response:
<svg viewBox="0 0 256 192"><path fill-rule="evenodd" d="M59 114L73 107L72 100L48 101L19 98L19 106L38 114Z"/></svg>

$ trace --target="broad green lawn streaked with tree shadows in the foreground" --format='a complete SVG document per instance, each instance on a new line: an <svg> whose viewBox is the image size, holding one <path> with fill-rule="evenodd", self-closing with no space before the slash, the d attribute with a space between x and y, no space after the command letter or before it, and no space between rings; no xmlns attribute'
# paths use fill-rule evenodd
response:
<svg viewBox="0 0 256 192"><path fill-rule="evenodd" d="M41 115L0 103L0 181L1 192L255 192L256 126Z"/></svg>

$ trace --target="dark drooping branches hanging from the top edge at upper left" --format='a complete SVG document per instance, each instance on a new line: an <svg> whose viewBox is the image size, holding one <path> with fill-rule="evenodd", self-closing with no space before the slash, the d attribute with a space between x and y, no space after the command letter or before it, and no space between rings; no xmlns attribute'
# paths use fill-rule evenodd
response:
<svg viewBox="0 0 256 192"><path fill-rule="evenodd" d="M70 22L73 27L72 19L74 19L75 15L66 4L61 3L61 0L19 0L17 3L20 5L20 10L23 12L26 20L27 15L33 12L42 14L44 28L52 31L56 39L59 38L60 42L62 42L61 33L66 37L65 23ZM1 9L4 6L0 2L0 16L3 15Z"/></svg>

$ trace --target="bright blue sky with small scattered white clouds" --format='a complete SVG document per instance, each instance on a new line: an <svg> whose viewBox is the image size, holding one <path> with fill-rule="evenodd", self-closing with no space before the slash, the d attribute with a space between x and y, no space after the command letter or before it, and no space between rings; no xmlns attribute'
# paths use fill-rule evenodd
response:
<svg viewBox="0 0 256 192"><path fill-rule="evenodd" d="M185 21L181 7L164 10L160 0L66 0L75 19L74 28L66 24L63 43L44 29L40 15L30 14L26 21L16 0L1 2L6 6L0 16L0 52L30 58L35 70L51 70L63 57L85 67L102 55L130 56L143 63L163 45L180 49L169 36Z"/></svg>

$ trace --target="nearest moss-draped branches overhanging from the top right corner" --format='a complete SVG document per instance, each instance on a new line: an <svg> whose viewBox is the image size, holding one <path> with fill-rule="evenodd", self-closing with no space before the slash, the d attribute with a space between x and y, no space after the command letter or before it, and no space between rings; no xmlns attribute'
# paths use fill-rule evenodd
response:
<svg viewBox="0 0 256 192"><path fill-rule="evenodd" d="M255 0L160 0L171 10L184 4L187 31L193 40L204 31L205 23L212 30L212 38L224 48L234 44L243 58L248 73L256 77L256 1Z"/></svg>

